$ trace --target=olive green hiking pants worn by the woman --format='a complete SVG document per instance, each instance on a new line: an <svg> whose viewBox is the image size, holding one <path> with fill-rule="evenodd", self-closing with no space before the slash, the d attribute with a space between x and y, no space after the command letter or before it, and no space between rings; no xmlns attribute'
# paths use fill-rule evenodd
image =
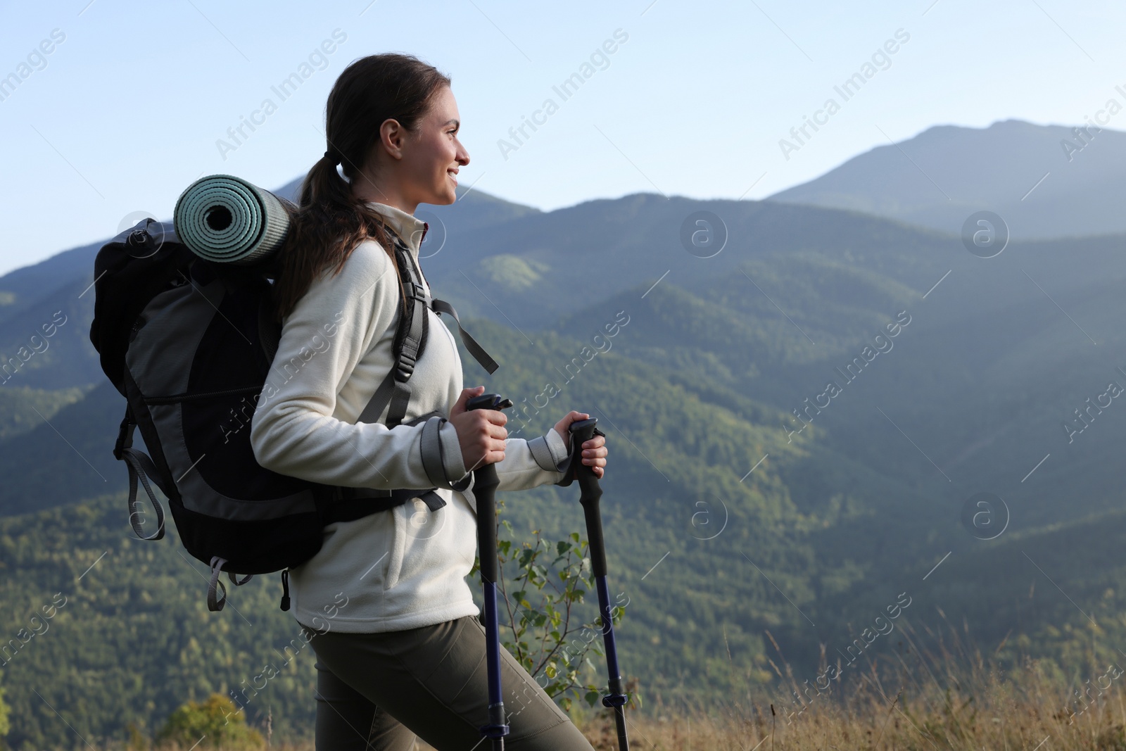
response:
<svg viewBox="0 0 1126 751"><path fill-rule="evenodd" d="M485 632L473 616L378 634L318 633L316 750L489 751ZM506 750L593 751L528 672L501 649Z"/></svg>

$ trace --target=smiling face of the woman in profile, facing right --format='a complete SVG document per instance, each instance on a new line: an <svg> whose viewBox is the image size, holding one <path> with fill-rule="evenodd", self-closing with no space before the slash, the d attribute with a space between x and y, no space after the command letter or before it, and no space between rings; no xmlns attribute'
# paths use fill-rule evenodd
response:
<svg viewBox="0 0 1126 751"><path fill-rule="evenodd" d="M454 92L440 87L404 144L400 169L411 203L441 206L457 199L457 170L470 163L470 153L457 140L459 126Z"/></svg>

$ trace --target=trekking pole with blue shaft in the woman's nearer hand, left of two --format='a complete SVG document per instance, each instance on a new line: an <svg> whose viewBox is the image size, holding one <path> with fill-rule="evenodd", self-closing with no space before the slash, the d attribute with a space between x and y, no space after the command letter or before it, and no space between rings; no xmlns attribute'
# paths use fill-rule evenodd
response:
<svg viewBox="0 0 1126 751"><path fill-rule="evenodd" d="M504 410L512 401L499 394L481 394L465 403L470 410ZM508 722L500 685L500 626L497 623L497 467L486 464L473 471L473 498L477 504L477 547L481 555L481 588L484 591L485 667L489 670L489 724L481 734L492 739L493 751L504 751Z"/></svg>

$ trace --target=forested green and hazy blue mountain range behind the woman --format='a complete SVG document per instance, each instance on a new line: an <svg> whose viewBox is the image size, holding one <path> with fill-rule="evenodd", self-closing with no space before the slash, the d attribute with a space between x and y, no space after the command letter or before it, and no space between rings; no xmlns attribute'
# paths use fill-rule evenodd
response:
<svg viewBox="0 0 1126 751"><path fill-rule="evenodd" d="M766 200L634 194L542 212L471 190L420 207L435 295L501 365L490 376L463 350L466 386L524 408L510 435L570 409L607 432L610 578L631 598L622 661L646 700L786 695L771 664L812 679L903 601L912 623L941 614L983 652L1073 677L1076 651L1126 635L1126 408L1110 387L1126 386L1126 226L1110 211L1126 141L1103 129L1066 168L1038 161L1069 132L936 127ZM1080 172L1105 177L1097 199ZM990 258L960 234L977 211L1012 231ZM88 337L99 247L0 278L5 361L55 325L0 388L0 627L56 591L75 599L57 638L2 667L15 748L65 739L21 690L33 681L56 707L89 707L66 715L80 732L151 728L238 686L293 626L276 576L232 592L241 615L208 614L206 565L175 535L128 539L111 456L125 404ZM560 396L529 408L547 384ZM508 494L506 517L526 538L581 530L569 491ZM159 644L131 653L152 629L167 629ZM282 707L301 733L313 672L294 671L267 696L275 728Z"/></svg>

